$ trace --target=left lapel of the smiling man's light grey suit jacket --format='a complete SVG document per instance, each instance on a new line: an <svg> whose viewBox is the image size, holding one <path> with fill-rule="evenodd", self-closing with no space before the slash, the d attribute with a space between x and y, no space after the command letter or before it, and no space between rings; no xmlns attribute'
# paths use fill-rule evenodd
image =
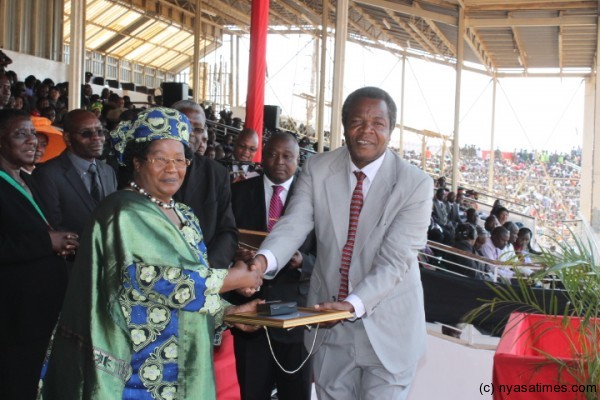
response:
<svg viewBox="0 0 600 400"><path fill-rule="evenodd" d="M329 166L329 176L325 178L325 197L333 222L336 242L340 251L348 239L348 224L350 219L350 188L348 151L341 151L339 156Z"/></svg>

